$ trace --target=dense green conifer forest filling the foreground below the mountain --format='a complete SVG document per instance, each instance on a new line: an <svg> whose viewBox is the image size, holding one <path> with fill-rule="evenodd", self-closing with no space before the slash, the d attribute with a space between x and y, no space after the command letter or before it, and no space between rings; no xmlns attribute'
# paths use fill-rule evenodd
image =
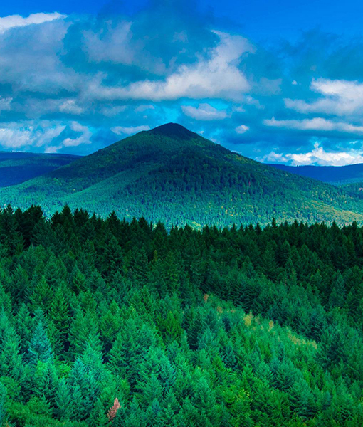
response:
<svg viewBox="0 0 363 427"><path fill-rule="evenodd" d="M0 212L0 426L361 427L363 228Z"/></svg>

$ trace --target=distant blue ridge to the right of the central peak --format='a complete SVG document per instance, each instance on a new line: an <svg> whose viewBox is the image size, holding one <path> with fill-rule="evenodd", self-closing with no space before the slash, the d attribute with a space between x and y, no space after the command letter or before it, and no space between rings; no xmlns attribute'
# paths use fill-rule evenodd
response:
<svg viewBox="0 0 363 427"><path fill-rule="evenodd" d="M270 164L270 166L338 186L363 181L363 163L347 166L287 166L285 164Z"/></svg>

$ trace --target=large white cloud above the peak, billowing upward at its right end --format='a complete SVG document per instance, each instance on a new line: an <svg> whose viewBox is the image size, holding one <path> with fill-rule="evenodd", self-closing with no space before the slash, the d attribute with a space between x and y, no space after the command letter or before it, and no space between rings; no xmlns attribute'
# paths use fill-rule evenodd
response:
<svg viewBox="0 0 363 427"><path fill-rule="evenodd" d="M246 76L237 68L243 53L253 51L246 38L214 31L219 45L209 59L199 58L194 65L181 65L165 80L142 80L125 87L107 87L101 81L90 83L88 93L101 100L177 100L222 97L240 100L250 88Z"/></svg>

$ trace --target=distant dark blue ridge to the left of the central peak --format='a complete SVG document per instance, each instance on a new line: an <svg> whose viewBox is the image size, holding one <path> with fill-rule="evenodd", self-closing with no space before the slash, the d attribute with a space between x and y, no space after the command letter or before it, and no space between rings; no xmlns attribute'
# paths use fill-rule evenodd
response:
<svg viewBox="0 0 363 427"><path fill-rule="evenodd" d="M78 158L70 154L0 152L0 187L21 184Z"/></svg>

